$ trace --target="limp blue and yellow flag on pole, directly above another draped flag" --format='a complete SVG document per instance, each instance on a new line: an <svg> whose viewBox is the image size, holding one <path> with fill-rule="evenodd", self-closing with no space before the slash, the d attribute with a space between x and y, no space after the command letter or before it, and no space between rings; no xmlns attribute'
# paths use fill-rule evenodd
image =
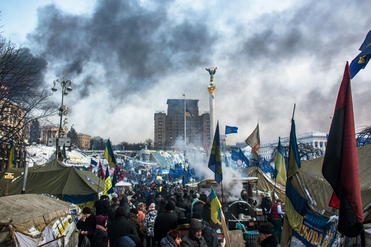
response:
<svg viewBox="0 0 371 247"><path fill-rule="evenodd" d="M295 121L291 120L290 147L289 147L289 164L287 167L287 178L292 177L301 167L298 141L296 141Z"/></svg>

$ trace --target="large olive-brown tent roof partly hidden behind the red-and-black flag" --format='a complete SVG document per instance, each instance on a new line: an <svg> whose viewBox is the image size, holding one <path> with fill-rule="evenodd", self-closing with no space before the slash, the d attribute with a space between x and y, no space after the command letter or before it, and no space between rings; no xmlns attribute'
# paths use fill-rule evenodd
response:
<svg viewBox="0 0 371 247"><path fill-rule="evenodd" d="M371 145L357 148L359 184L361 187L362 208L367 208L365 222L371 220ZM308 200L309 208L316 214L322 214L325 210L325 217L338 215L338 210L328 206L332 196L332 187L322 175L323 157L301 162L299 173L293 176L292 183L298 192Z"/></svg>

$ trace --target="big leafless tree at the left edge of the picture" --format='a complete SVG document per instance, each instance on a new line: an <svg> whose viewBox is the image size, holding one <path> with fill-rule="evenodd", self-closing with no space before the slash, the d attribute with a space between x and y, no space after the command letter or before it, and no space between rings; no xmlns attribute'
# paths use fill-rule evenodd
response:
<svg viewBox="0 0 371 247"><path fill-rule="evenodd" d="M47 101L51 92L36 84L39 78L36 58L0 35L0 170L5 168L10 140L19 163L26 157L30 124L55 113Z"/></svg>

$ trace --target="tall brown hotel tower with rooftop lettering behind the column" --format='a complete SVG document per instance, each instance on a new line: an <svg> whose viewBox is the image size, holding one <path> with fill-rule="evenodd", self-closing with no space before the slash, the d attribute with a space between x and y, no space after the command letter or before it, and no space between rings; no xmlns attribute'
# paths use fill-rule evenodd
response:
<svg viewBox="0 0 371 247"><path fill-rule="evenodd" d="M163 110L154 114L154 148L157 150L184 147L184 143L177 143L177 140L184 142L184 99L168 99L167 105L167 114ZM201 116L198 115L198 100L185 100L185 108L194 116L185 118L187 145L209 146L210 114L204 111Z"/></svg>

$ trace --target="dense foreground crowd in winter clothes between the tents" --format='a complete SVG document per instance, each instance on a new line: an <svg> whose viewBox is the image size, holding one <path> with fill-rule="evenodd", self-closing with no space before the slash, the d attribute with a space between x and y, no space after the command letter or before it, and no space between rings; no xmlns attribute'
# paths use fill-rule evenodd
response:
<svg viewBox="0 0 371 247"><path fill-rule="evenodd" d="M210 197L179 183L138 183L111 200L102 195L95 213L83 208L78 247L216 247L210 207Z"/></svg>

